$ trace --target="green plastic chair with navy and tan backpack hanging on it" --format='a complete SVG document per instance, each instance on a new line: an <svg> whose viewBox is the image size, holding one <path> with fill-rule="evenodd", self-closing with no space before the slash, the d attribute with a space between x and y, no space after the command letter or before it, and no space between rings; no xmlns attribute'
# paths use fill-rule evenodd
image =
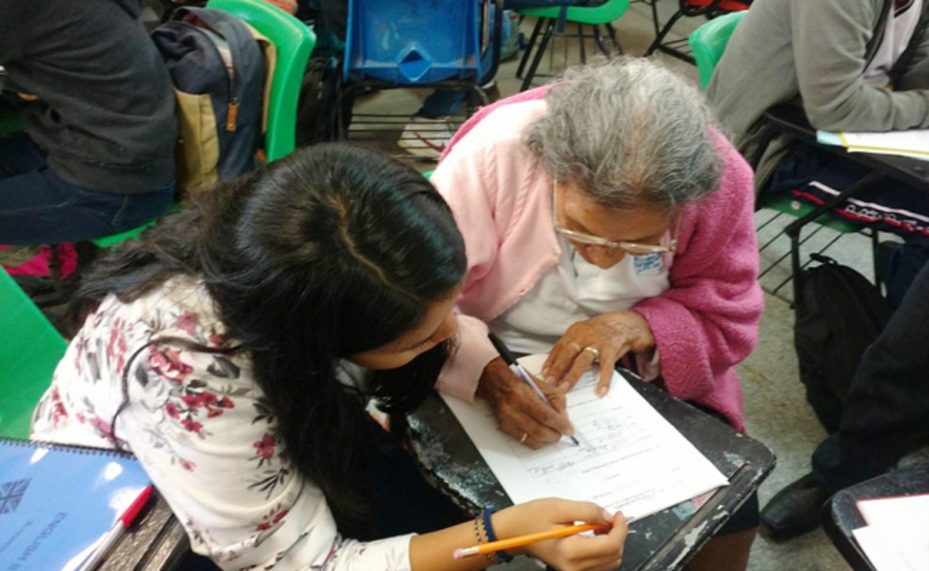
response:
<svg viewBox="0 0 929 571"><path fill-rule="evenodd" d="M265 155L268 163L294 152L296 146L296 104L300 98L300 83L307 69L309 54L316 46L316 35L307 25L279 7L263 0L210 0L206 7L229 12L248 22L277 47L278 60L271 77L268 101L268 131L265 134ZM166 214L177 212L175 205ZM91 240L98 248L116 246L157 223L151 220L131 230Z"/></svg>

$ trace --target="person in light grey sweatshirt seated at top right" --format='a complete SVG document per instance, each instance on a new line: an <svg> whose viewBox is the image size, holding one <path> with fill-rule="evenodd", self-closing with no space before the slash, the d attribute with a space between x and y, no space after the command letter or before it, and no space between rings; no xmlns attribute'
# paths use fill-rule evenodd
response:
<svg viewBox="0 0 929 571"><path fill-rule="evenodd" d="M772 107L802 104L810 124L827 131L929 127L927 13L925 0L755 1L706 93L756 167L758 193L821 204L870 172L815 144L770 140L764 113ZM906 240L883 276L896 306L929 259L929 197L887 183L834 212Z"/></svg>

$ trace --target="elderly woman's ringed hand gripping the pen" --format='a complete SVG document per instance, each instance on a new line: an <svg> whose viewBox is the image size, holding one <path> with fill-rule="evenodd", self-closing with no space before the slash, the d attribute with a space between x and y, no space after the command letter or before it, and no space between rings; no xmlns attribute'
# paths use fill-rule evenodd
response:
<svg viewBox="0 0 929 571"><path fill-rule="evenodd" d="M500 430L533 449L557 442L562 435L574 434L574 427L565 413L564 392L546 387L542 382L537 384L551 405L544 403L500 357L484 367L478 381L478 396L491 405Z"/></svg>

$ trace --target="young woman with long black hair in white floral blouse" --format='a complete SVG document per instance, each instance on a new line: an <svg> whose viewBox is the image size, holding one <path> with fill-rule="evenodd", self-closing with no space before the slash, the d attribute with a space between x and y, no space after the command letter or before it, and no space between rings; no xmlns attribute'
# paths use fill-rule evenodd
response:
<svg viewBox="0 0 929 571"><path fill-rule="evenodd" d="M431 392L464 270L451 210L415 170L347 145L297 151L98 260L32 437L132 451L224 569L482 569L451 556L475 522L388 449L364 398L402 414ZM480 540L577 520L613 526L525 551L618 567L625 519L592 503L520 504Z"/></svg>

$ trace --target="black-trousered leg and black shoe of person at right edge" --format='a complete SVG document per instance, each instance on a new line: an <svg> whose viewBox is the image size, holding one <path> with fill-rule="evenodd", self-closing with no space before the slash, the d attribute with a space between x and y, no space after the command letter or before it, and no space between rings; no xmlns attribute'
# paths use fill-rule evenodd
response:
<svg viewBox="0 0 929 571"><path fill-rule="evenodd" d="M812 531L831 495L888 471L929 445L929 265L922 268L890 322L862 355L845 395L841 423L813 453L813 471L765 506L776 538Z"/></svg>

